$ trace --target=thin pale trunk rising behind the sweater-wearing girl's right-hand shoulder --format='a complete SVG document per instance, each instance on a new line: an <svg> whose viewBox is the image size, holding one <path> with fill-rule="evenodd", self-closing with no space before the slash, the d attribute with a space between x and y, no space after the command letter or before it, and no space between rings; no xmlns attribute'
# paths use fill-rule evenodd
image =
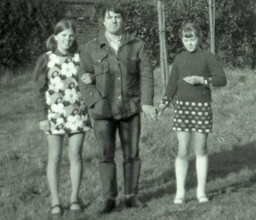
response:
<svg viewBox="0 0 256 220"><path fill-rule="evenodd" d="M215 53L215 0L208 0L211 52Z"/></svg>

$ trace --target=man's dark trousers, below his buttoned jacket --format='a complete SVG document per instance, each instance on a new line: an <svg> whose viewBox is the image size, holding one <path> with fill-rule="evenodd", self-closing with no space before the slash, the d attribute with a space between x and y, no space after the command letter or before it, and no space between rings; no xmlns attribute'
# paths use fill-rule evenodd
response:
<svg viewBox="0 0 256 220"><path fill-rule="evenodd" d="M139 158L140 113L127 119L100 119L94 121L94 132L100 152L99 175L105 198L115 198L118 195L117 164L115 163L117 131L123 151L125 194L138 193L139 174L141 172L141 159Z"/></svg>

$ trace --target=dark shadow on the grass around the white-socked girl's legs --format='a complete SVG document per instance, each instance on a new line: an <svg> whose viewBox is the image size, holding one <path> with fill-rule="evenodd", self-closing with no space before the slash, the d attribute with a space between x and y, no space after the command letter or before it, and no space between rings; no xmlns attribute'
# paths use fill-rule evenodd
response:
<svg viewBox="0 0 256 220"><path fill-rule="evenodd" d="M243 169L256 170L255 155L256 155L256 140L246 144L234 144L231 146L232 150L221 151L209 155L209 166L207 182L214 182L216 179L227 177L231 173L238 173ZM186 189L195 188L197 186L197 176L195 168L196 160L193 158L189 162L188 176L186 180ZM222 188L213 189L208 191L210 199L214 194L220 194L228 191L230 188L248 187L254 184L256 177L253 176L249 180L232 181ZM214 183L213 183L214 184ZM158 187L152 187L152 185ZM158 177L150 180L141 181L142 194L141 199L149 201L152 198L161 198L165 194L175 194L175 170L170 167L168 170L163 171ZM215 188L215 187L214 187ZM218 192L217 192L218 191Z"/></svg>

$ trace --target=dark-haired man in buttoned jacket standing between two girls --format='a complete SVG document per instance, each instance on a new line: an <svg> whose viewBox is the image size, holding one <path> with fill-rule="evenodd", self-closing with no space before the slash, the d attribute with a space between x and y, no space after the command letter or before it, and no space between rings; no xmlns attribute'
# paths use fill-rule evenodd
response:
<svg viewBox="0 0 256 220"><path fill-rule="evenodd" d="M102 19L105 33L81 50L80 87L94 120L100 150L99 174L105 199L101 212L107 213L115 207L118 195L115 163L117 131L123 151L126 206L145 206L137 198L141 171L141 111L153 120L157 116L153 106L153 71L145 43L123 33L125 12L119 6L105 6Z"/></svg>

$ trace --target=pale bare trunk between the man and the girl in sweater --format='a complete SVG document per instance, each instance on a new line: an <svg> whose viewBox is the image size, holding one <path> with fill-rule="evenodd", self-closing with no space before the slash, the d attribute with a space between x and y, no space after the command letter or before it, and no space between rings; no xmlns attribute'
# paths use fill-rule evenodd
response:
<svg viewBox="0 0 256 220"><path fill-rule="evenodd" d="M161 66L161 78L163 90L167 85L169 76L167 49L166 49L166 38L165 38L165 3L163 0L158 0L158 27L159 27L159 44L160 44L160 66Z"/></svg>

